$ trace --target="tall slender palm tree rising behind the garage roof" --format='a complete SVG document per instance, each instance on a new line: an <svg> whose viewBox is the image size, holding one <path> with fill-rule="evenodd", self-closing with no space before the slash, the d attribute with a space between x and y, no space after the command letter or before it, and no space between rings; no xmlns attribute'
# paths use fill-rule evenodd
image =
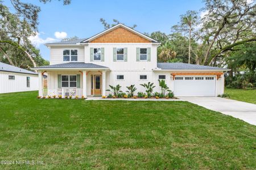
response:
<svg viewBox="0 0 256 170"><path fill-rule="evenodd" d="M181 31L185 33L188 32L188 63L191 62L191 39L192 39L192 30L197 24L197 12L196 11L187 11L186 14L180 15L180 23L178 25L174 25L172 29L177 31Z"/></svg>

